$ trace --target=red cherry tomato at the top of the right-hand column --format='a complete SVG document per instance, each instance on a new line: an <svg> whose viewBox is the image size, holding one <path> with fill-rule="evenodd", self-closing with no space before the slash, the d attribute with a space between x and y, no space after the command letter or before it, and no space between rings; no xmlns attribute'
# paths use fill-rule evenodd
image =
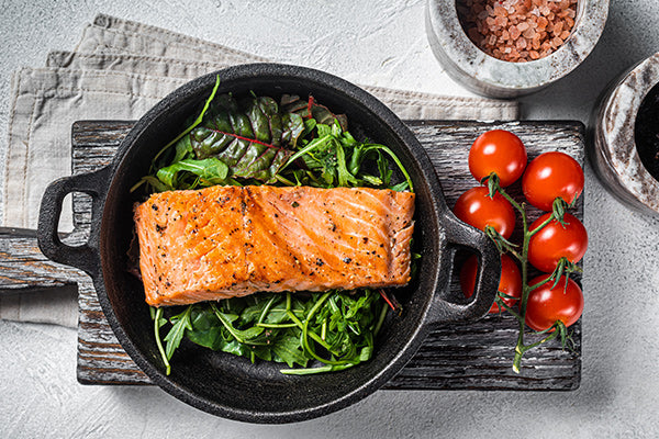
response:
<svg viewBox="0 0 659 439"><path fill-rule="evenodd" d="M558 196L568 204L579 198L583 191L583 169L567 154L541 154L526 167L522 191L530 204L550 212Z"/></svg>

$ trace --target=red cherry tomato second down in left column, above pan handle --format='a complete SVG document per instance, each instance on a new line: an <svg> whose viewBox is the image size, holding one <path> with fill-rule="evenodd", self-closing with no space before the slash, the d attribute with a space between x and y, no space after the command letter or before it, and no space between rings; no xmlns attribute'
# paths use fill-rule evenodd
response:
<svg viewBox="0 0 659 439"><path fill-rule="evenodd" d="M511 203L499 192L491 199L488 188L482 185L461 194L456 201L454 213L465 223L481 230L490 225L506 239L515 228L515 212Z"/></svg>

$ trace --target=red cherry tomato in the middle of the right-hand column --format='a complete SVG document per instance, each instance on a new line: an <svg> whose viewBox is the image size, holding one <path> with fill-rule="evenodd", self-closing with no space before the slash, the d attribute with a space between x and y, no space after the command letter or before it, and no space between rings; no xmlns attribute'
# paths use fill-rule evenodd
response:
<svg viewBox="0 0 659 439"><path fill-rule="evenodd" d="M551 216L550 213L541 215L533 222L530 230ZM563 215L566 225L552 219L528 241L528 261L538 270L547 273L554 271L561 257L572 262L579 262L588 248L588 233L583 224L566 213Z"/></svg>

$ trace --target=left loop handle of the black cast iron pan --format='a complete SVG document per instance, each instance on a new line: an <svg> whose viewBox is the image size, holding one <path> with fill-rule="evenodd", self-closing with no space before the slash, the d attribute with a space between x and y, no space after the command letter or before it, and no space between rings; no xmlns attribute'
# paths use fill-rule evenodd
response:
<svg viewBox="0 0 659 439"><path fill-rule="evenodd" d="M94 224L105 201L109 179L110 167L107 166L96 172L60 178L46 188L38 212L37 240L38 247L47 258L97 277L101 267L98 235L91 233L87 243L69 246L59 239L57 226L62 202L71 192L83 192L91 196L91 222Z"/></svg>

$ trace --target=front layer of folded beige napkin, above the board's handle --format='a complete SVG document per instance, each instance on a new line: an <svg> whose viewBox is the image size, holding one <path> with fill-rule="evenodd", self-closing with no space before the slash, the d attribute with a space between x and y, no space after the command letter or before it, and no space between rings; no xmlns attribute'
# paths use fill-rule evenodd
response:
<svg viewBox="0 0 659 439"><path fill-rule="evenodd" d="M120 71L20 70L10 109L4 225L36 228L46 185L71 173L70 130L75 121L136 119L185 82L182 78ZM71 215L63 215L60 225L69 232Z"/></svg>

